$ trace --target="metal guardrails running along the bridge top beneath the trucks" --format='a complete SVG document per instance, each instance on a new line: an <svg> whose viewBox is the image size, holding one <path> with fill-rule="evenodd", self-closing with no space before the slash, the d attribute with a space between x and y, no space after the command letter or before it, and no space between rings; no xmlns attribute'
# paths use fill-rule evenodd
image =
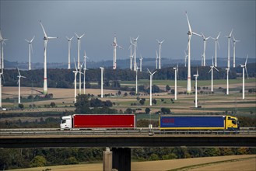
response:
<svg viewBox="0 0 256 171"><path fill-rule="evenodd" d="M160 131L159 129L135 128L135 129L92 129L92 130L63 130L55 128L43 129L0 129L0 136L25 136L25 135L128 135L128 134L256 134L254 129L242 129L240 131Z"/></svg>

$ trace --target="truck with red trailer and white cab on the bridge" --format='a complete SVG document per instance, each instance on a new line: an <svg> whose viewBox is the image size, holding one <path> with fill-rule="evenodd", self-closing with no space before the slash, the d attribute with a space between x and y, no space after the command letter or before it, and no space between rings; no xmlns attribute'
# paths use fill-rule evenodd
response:
<svg viewBox="0 0 256 171"><path fill-rule="evenodd" d="M61 130L72 128L134 128L134 114L73 114L61 117Z"/></svg>

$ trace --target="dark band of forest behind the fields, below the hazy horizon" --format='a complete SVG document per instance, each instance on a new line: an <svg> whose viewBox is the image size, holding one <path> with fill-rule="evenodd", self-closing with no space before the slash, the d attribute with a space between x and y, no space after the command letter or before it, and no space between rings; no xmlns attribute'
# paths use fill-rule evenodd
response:
<svg viewBox="0 0 256 171"><path fill-rule="evenodd" d="M191 67L191 75L196 73L198 69L201 80L211 79L209 72L209 67ZM247 65L247 71L249 77L255 76L255 68L253 65ZM178 79L185 80L188 78L187 75L188 68L180 67L178 72ZM215 71L216 72L216 71ZM30 71L20 71L21 75L25 76L26 79L21 80L21 86L30 87L42 87L44 78L44 69L30 70ZM240 68L230 68L230 79L237 79L237 73L241 73ZM5 69L3 76L4 86L17 86L17 69ZM225 68L219 68L219 72L214 75L215 79L226 79ZM118 82L120 81L135 81L135 72L130 69L117 69L105 68L104 72L104 86L118 87ZM75 76L72 70L59 69L59 68L49 68L47 69L47 84L51 88L73 88ZM148 72L138 72L138 79L149 79ZM174 69L173 68L162 68L156 72L154 79L159 80L173 80L174 79ZM86 70L86 86L90 88L89 82L100 82L100 69L89 69ZM120 86L120 85L119 85ZM100 88L96 86L93 88Z"/></svg>

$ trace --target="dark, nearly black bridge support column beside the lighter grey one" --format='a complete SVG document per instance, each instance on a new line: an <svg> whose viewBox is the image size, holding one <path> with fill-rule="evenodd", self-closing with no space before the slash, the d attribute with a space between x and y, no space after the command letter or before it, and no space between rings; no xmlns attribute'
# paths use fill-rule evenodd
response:
<svg viewBox="0 0 256 171"><path fill-rule="evenodd" d="M131 148L112 148L113 169L131 171Z"/></svg>

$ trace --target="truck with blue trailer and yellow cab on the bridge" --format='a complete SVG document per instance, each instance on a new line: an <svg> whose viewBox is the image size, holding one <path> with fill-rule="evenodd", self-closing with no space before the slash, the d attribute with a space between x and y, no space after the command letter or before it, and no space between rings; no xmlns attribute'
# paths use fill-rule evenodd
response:
<svg viewBox="0 0 256 171"><path fill-rule="evenodd" d="M231 116L160 116L160 130L239 130L237 117Z"/></svg>

